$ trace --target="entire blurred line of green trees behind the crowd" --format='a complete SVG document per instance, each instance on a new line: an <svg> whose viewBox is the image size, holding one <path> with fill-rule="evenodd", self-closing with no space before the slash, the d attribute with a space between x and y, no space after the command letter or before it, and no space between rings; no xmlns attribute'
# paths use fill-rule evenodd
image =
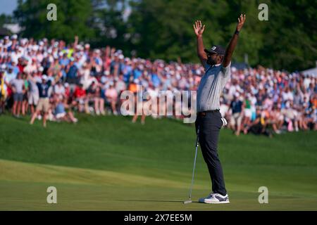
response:
<svg viewBox="0 0 317 225"><path fill-rule="evenodd" d="M46 6L58 8L57 21L46 20ZM260 21L259 4L268 5ZM129 13L130 12L130 13ZM233 60L251 66L302 70L317 59L317 1L314 0L25 0L15 18L25 37L89 41L143 58L198 62L192 25L206 25L204 44L227 46L237 17L247 15Z"/></svg>

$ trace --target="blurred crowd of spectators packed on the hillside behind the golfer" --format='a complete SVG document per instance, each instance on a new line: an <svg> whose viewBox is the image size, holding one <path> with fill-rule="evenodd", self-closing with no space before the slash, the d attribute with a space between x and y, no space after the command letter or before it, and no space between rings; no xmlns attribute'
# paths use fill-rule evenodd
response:
<svg viewBox="0 0 317 225"><path fill-rule="evenodd" d="M268 68L231 68L220 98L220 113L237 136L317 129L317 77ZM106 46L61 40L0 39L0 113L31 115L43 121L77 122L77 113L120 115L122 91L142 85L159 91L194 91L204 68L199 64L128 58ZM137 121L137 116L132 122ZM142 124L145 116L142 115Z"/></svg>

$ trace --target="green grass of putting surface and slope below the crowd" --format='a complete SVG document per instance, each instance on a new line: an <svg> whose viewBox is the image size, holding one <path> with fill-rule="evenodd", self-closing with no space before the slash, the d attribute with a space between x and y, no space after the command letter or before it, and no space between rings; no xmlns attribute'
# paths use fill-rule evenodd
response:
<svg viewBox="0 0 317 225"><path fill-rule="evenodd" d="M317 210L317 133L220 131L227 205L195 203L211 191L201 152L192 200L194 127L175 120L78 115L78 124L0 116L0 210ZM57 188L57 204L46 188ZM268 188L268 204L258 189Z"/></svg>

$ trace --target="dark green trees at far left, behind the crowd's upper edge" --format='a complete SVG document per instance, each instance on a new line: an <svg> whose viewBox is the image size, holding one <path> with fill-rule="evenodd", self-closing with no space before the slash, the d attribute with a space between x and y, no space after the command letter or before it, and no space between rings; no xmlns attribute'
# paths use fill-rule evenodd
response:
<svg viewBox="0 0 317 225"><path fill-rule="evenodd" d="M47 5L56 4L57 20L46 18ZM89 26L89 16L92 14L92 4L87 0L27 0L18 1L14 15L21 27L24 37L64 39L73 41L75 35L80 39L94 37L94 29Z"/></svg>

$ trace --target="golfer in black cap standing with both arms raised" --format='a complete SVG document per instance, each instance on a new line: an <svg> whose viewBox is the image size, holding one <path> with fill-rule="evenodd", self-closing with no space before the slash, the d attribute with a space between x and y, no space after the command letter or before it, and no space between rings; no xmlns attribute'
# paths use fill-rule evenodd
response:
<svg viewBox="0 0 317 225"><path fill-rule="evenodd" d="M195 122L196 132L204 160L209 169L212 183L212 192L206 198L200 198L200 203L229 203L223 169L218 158L217 145L220 128L223 120L219 112L220 94L231 76L230 65L232 53L237 45L239 32L245 21L245 15L238 18L235 34L225 50L221 46L213 46L204 49L202 34L205 25L197 20L194 24L194 32L197 35L197 54L204 66L205 74L197 90L197 119Z"/></svg>

